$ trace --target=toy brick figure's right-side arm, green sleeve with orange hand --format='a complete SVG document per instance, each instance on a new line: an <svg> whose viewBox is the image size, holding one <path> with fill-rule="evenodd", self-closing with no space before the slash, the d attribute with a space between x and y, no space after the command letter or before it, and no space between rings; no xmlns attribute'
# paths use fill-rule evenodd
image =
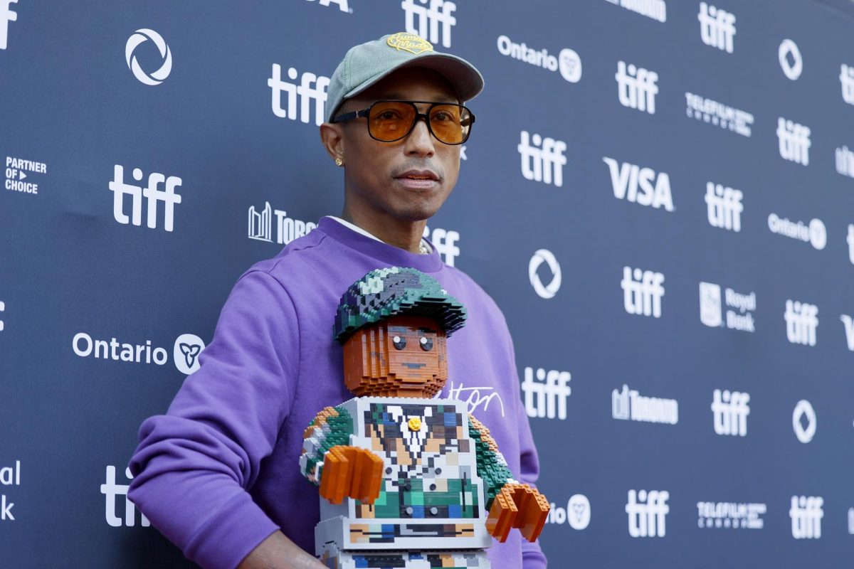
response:
<svg viewBox="0 0 854 569"><path fill-rule="evenodd" d="M513 479L489 429L469 415L469 433L477 451L477 474L486 485L487 530L500 542L517 527L533 542L540 535L550 505L540 491Z"/></svg>

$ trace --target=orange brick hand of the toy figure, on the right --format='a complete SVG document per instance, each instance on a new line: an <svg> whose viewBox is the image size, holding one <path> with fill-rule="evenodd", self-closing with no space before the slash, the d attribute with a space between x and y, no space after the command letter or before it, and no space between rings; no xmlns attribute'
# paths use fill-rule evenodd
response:
<svg viewBox="0 0 854 569"><path fill-rule="evenodd" d="M533 542L546 524L549 509L551 506L546 496L536 488L527 484L507 484L501 488L489 508L486 529L495 539L504 543L510 529L518 527L522 536Z"/></svg>

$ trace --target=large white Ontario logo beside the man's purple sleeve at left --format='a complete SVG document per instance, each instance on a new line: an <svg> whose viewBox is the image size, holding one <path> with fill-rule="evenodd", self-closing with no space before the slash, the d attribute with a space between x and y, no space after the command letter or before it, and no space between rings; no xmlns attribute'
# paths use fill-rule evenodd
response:
<svg viewBox="0 0 854 569"><path fill-rule="evenodd" d="M153 345L151 340L143 344L120 342L115 337L109 340L92 338L90 334L78 332L71 341L74 354L79 357L112 360L127 363L154 363L165 365L169 361L166 348ZM173 343L173 363L182 374L192 374L199 369L199 355L205 349L204 340L196 334L181 334Z"/></svg>

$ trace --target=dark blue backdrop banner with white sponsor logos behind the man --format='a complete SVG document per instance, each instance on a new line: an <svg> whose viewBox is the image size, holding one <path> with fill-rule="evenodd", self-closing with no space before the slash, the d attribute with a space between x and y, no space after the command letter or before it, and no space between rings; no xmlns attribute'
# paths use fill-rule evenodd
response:
<svg viewBox="0 0 854 569"><path fill-rule="evenodd" d="M341 212L330 74L403 31L486 79L425 235L514 335L551 566L854 565L851 11L0 0L0 566L193 566L137 429Z"/></svg>

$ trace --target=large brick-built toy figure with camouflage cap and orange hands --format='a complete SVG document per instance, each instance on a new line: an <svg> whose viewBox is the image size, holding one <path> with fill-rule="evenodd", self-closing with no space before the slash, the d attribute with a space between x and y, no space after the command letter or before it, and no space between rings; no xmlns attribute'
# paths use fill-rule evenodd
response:
<svg viewBox="0 0 854 569"><path fill-rule="evenodd" d="M342 296L334 335L356 398L319 412L300 458L319 485L315 553L326 566L483 568L491 537L540 534L546 498L513 479L465 404L434 398L465 316L414 269L372 270Z"/></svg>

